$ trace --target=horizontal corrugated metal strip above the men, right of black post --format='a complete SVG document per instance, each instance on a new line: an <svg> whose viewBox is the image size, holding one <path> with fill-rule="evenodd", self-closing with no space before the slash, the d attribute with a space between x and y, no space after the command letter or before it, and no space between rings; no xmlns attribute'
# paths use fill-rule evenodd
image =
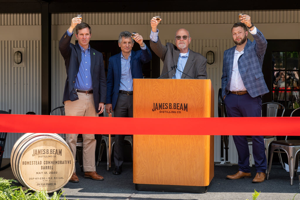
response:
<svg viewBox="0 0 300 200"><path fill-rule="evenodd" d="M220 12L164 12L159 13L161 24L232 24L238 22L240 11ZM241 11L243 12L243 11ZM244 11L253 17L253 23L298 23L299 10ZM90 25L150 24L158 13L82 13L84 22ZM52 25L69 25L76 13L52 14Z"/></svg>

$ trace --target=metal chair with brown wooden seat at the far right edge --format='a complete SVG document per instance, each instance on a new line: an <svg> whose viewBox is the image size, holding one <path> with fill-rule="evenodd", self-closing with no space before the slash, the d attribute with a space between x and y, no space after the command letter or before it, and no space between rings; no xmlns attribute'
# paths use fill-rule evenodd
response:
<svg viewBox="0 0 300 200"><path fill-rule="evenodd" d="M290 115L291 117L295 113L295 111L297 112L300 111L300 108L295 109L291 113ZM298 168L298 164L299 164L298 152L300 151L300 140L288 140L286 136L285 140L273 141L271 145L271 159L269 164L267 180L269 180L269 175L271 172L273 153L274 152L278 152L278 154L280 153L280 151L275 151L276 149L282 149L287 154L288 162L289 162L289 176L291 179L291 185L293 185L293 177L296 176L297 174L297 169L295 169L295 166L297 166ZM297 165L295 165L295 163L297 163Z"/></svg>

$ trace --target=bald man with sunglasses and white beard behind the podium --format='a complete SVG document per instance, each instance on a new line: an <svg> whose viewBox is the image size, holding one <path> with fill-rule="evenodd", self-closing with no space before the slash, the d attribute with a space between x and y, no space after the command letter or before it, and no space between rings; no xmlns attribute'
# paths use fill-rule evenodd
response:
<svg viewBox="0 0 300 200"><path fill-rule="evenodd" d="M153 17L150 21L150 47L164 62L162 78L165 79L207 79L206 58L188 48L192 38L189 31L180 28L176 31L175 42L164 46L158 37L157 25L160 20Z"/></svg>

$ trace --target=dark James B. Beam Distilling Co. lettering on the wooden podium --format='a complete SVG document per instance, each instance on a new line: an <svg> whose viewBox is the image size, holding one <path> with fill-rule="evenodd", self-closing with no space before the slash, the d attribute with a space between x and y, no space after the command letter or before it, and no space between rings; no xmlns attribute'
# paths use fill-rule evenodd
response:
<svg viewBox="0 0 300 200"><path fill-rule="evenodd" d="M187 103L153 103L152 112L179 114L187 112Z"/></svg>

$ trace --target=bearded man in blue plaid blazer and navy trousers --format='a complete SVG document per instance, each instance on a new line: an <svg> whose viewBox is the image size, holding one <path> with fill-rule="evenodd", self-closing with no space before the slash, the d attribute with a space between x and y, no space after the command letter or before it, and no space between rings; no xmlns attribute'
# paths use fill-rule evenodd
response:
<svg viewBox="0 0 300 200"><path fill-rule="evenodd" d="M227 49L223 58L222 95L229 117L260 117L262 95L269 92L262 74L262 62L267 48L263 34L251 23L250 16L242 15L241 22L232 27L232 37L236 46ZM254 41L247 39L248 31ZM235 130L246 129L245 124L231 124ZM247 136L233 136L238 151L239 171L227 175L229 179L251 177ZM267 160L263 136L252 136L253 157L256 176L253 183L265 180Z"/></svg>

